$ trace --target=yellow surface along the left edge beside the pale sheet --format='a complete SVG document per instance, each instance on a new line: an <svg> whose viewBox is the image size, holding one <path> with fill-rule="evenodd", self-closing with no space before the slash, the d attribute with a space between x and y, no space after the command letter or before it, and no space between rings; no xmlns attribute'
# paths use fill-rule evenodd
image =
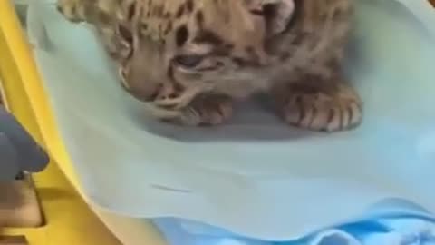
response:
<svg viewBox="0 0 435 245"><path fill-rule="evenodd" d="M34 175L46 225L37 229L5 229L0 232L25 234L31 245L118 245L120 242L74 189L77 179L56 131L39 79L29 46L14 15L12 1L0 0L0 84L6 106L49 150L56 162L63 162L61 165L51 162L45 171Z"/></svg>

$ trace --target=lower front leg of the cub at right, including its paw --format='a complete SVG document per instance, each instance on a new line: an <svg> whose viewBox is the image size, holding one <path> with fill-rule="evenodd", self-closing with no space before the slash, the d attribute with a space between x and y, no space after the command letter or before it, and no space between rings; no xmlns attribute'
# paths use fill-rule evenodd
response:
<svg viewBox="0 0 435 245"><path fill-rule="evenodd" d="M278 113L296 127L324 132L353 129L362 122L362 102L343 75L302 74L275 88Z"/></svg>

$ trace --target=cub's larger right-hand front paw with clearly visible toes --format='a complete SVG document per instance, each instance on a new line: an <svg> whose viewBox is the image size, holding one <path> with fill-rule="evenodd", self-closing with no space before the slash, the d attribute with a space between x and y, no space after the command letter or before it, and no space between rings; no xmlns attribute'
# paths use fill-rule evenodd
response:
<svg viewBox="0 0 435 245"><path fill-rule="evenodd" d="M288 90L279 106L285 122L308 130L344 131L362 122L362 103L344 84L329 90L298 84Z"/></svg>

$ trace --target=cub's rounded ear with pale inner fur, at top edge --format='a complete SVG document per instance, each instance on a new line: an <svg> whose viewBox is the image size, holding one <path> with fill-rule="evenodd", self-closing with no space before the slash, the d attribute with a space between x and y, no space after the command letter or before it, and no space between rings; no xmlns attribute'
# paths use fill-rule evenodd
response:
<svg viewBox="0 0 435 245"><path fill-rule="evenodd" d="M295 13L295 0L242 0L252 15L265 18L267 34L281 34Z"/></svg>

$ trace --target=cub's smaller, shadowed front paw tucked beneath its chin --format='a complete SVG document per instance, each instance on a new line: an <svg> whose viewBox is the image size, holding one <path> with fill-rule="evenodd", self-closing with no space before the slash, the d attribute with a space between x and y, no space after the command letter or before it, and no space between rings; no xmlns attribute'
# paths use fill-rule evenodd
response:
<svg viewBox="0 0 435 245"><path fill-rule="evenodd" d="M227 122L233 113L232 100L225 95L201 95L182 109L177 122L188 126L214 126Z"/></svg>

